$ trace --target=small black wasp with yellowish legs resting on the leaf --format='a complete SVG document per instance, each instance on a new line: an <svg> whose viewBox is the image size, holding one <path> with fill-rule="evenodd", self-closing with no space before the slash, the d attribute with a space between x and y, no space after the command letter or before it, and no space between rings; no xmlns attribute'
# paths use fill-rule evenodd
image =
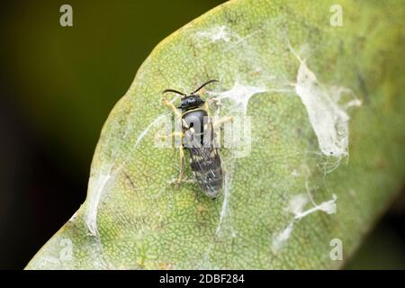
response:
<svg viewBox="0 0 405 288"><path fill-rule="evenodd" d="M174 89L163 91L163 94L171 92L182 95L181 103L177 107L166 98L162 100L162 103L181 121L182 131L161 137L180 136L182 139L179 145L180 175L176 184L180 184L184 177L184 149L187 149L190 152L191 170L202 192L211 198L216 198L222 189L223 173L219 148L216 145L215 128L225 121L231 121L232 117L223 117L216 122L211 121L209 102L203 101L198 92L205 85L213 82L218 80L207 81L190 94Z"/></svg>

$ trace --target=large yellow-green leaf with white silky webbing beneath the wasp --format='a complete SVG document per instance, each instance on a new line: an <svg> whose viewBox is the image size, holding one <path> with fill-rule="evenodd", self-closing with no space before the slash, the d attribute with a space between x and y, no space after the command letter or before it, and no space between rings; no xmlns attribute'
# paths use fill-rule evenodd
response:
<svg viewBox="0 0 405 288"><path fill-rule="evenodd" d="M334 1L229 1L157 45L103 127L85 203L27 268L341 266L401 187L405 11L339 3L342 26ZM220 149L216 200L171 184L178 151L156 145L161 92L211 78L202 96L251 128L250 148Z"/></svg>

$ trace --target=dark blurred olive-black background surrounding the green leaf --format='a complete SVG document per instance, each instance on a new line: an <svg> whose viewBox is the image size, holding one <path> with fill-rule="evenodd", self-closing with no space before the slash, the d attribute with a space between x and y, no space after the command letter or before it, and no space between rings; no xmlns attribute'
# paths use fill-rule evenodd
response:
<svg viewBox="0 0 405 288"><path fill-rule="evenodd" d="M151 49L222 2L0 4L0 268L22 269L84 202L103 122ZM347 268L405 268L403 194Z"/></svg>

